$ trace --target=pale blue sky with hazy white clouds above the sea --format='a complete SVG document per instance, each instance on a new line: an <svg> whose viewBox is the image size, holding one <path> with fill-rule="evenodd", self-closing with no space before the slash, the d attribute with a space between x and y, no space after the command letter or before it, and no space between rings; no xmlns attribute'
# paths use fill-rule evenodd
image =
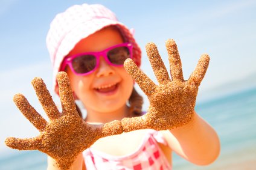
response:
<svg viewBox="0 0 256 170"><path fill-rule="evenodd" d="M186 79L202 53L211 56L199 100L221 96L232 88L256 85L256 1L1 0L0 153L12 152L3 145L7 136L24 138L38 134L16 109L12 97L15 93L24 94L45 116L30 82L35 76L42 77L52 91L52 68L45 45L50 22L70 5L83 2L106 5L121 22L135 28L135 38L142 48L141 68L153 80L144 46L150 41L156 43L168 68L165 40L173 38Z"/></svg>

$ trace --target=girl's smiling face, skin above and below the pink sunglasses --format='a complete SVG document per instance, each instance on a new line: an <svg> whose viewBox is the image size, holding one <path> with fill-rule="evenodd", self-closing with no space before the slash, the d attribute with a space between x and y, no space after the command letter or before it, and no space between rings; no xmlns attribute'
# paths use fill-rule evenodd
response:
<svg viewBox="0 0 256 170"><path fill-rule="evenodd" d="M76 44L68 56L82 52L98 52L123 43L120 32L105 28ZM100 57L100 65L86 76L75 75L67 68L72 90L90 112L113 112L126 106L132 93L133 80L124 67L114 67Z"/></svg>

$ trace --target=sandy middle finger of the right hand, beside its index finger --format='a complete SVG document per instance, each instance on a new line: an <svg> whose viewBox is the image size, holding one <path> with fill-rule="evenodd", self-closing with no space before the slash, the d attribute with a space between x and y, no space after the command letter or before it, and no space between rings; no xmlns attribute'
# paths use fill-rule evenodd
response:
<svg viewBox="0 0 256 170"><path fill-rule="evenodd" d="M154 43L146 45L147 56L159 83L170 82L170 77Z"/></svg>

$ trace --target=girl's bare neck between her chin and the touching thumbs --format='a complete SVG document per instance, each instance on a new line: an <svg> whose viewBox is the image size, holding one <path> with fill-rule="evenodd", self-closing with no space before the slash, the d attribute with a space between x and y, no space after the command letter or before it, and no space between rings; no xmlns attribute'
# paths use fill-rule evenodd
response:
<svg viewBox="0 0 256 170"><path fill-rule="evenodd" d="M86 122L90 124L104 124L114 120L121 120L128 117L129 107L124 105L122 108L111 112L99 112L87 109Z"/></svg>

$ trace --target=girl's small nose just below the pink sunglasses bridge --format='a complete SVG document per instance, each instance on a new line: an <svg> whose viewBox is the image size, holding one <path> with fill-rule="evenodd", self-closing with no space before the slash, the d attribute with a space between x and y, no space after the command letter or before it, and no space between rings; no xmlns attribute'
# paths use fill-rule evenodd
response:
<svg viewBox="0 0 256 170"><path fill-rule="evenodd" d="M107 61L103 58L103 56L100 57L100 64L96 70L96 76L109 76L111 74L114 74L114 70L111 65L107 64Z"/></svg>

